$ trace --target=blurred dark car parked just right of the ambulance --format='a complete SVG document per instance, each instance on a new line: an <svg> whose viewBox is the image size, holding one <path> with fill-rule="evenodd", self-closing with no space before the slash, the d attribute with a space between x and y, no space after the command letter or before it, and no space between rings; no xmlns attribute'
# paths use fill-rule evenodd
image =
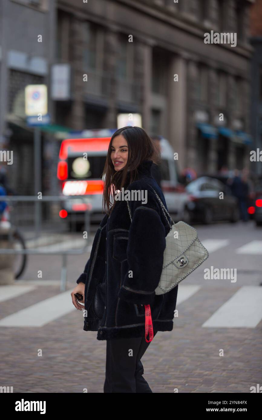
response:
<svg viewBox="0 0 262 420"><path fill-rule="evenodd" d="M231 194L230 188L215 178L202 176L186 186L188 202L186 208L190 221L205 224L218 220L229 220L235 223L239 220L238 200ZM220 199L220 192L224 198Z"/></svg>

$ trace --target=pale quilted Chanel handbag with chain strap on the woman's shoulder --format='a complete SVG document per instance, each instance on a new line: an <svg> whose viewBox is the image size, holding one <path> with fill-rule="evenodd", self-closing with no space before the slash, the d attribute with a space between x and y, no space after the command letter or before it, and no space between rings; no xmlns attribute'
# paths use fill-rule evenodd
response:
<svg viewBox="0 0 262 420"><path fill-rule="evenodd" d="M149 186L151 187L151 185ZM151 188L153 189L153 187ZM155 192L154 189L153 191ZM165 218L167 219L167 213L172 220L158 194L156 194L156 197L159 199ZM128 201L127 207L132 222ZM199 241L195 228L181 220L177 223L172 220L172 225L168 219L167 222L170 226L170 231L166 236L163 268L159 284L155 289L156 294L164 294L172 290L209 256L208 251Z"/></svg>

